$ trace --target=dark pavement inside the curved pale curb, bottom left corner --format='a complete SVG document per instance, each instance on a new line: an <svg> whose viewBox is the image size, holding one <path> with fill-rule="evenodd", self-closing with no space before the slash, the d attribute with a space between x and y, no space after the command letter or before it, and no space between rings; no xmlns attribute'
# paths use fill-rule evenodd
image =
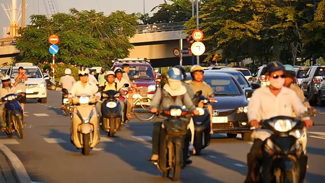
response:
<svg viewBox="0 0 325 183"><path fill-rule="evenodd" d="M14 171L2 151L0 151L0 182L18 183L15 178Z"/></svg>

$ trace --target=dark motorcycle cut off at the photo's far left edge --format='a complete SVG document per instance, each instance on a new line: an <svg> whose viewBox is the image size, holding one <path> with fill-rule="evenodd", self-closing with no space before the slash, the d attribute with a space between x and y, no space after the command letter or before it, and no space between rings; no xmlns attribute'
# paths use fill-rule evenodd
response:
<svg viewBox="0 0 325 183"><path fill-rule="evenodd" d="M20 97L18 94L8 94L1 98L5 103L5 111L3 112L4 119L6 119L7 127L5 132L9 138L12 137L14 132L18 133L18 138L23 138L23 110L17 99Z"/></svg>

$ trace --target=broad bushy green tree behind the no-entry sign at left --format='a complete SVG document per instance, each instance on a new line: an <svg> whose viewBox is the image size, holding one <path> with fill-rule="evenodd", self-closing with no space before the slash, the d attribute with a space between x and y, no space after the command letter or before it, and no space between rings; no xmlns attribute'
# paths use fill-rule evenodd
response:
<svg viewBox="0 0 325 183"><path fill-rule="evenodd" d="M60 41L57 62L78 66L110 66L112 58L124 58L133 46L137 18L117 11L109 16L94 10L57 13L51 18L31 15L31 25L19 29L16 62L39 63L51 60L48 37L56 34Z"/></svg>

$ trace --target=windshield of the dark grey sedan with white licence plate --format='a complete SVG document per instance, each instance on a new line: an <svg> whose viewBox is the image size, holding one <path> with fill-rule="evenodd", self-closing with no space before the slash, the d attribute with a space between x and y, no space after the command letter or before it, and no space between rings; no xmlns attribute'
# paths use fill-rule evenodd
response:
<svg viewBox="0 0 325 183"><path fill-rule="evenodd" d="M214 95L241 95L239 88L231 77L204 77L204 81L212 87Z"/></svg>

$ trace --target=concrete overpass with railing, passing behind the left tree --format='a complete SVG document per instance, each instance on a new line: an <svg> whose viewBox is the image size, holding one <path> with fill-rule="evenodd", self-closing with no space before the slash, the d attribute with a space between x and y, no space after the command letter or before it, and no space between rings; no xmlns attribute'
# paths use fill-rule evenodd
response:
<svg viewBox="0 0 325 183"><path fill-rule="evenodd" d="M183 48L189 47L186 34L182 33L186 27L185 22L160 23L136 26L136 35L130 39L135 46L130 50L130 58L148 58L153 67L167 67L179 64L179 56L174 54L174 49L180 50L180 40ZM122 31L122 30L120 30ZM11 62L13 56L19 53L15 47L16 42L7 38L0 40L0 65ZM200 60L205 58L201 56ZM196 60L194 61L196 63ZM192 65L191 55L183 54L183 65Z"/></svg>

